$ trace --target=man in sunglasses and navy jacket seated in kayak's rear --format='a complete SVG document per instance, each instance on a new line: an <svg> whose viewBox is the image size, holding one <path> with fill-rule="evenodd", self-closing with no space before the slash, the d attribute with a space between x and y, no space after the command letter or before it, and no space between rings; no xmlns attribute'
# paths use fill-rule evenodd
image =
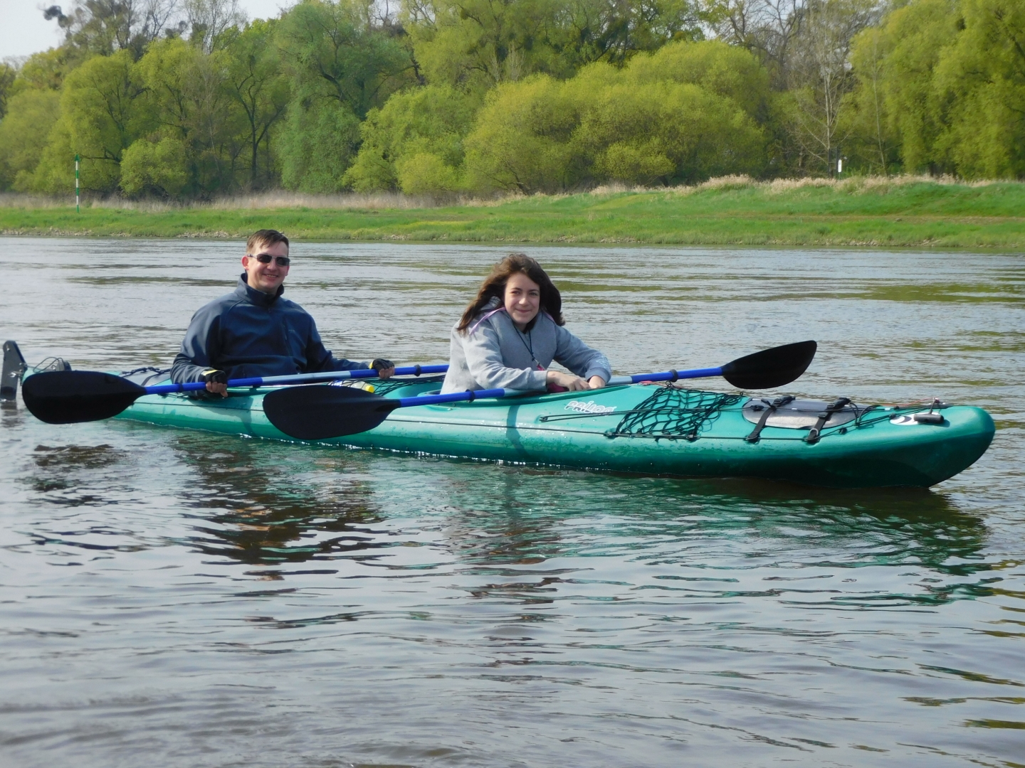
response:
<svg viewBox="0 0 1025 768"><path fill-rule="evenodd" d="M290 263L288 238L277 229L253 232L235 291L193 315L171 366L171 380L205 381L207 391L227 396L229 379L253 376L368 368L381 379L392 376L391 360L378 357L367 366L339 359L324 348L310 313L281 297Z"/></svg>

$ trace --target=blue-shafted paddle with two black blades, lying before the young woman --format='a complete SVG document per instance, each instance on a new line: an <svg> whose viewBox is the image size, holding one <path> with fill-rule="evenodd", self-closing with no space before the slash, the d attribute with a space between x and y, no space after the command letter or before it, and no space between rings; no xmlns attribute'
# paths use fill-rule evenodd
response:
<svg viewBox="0 0 1025 768"><path fill-rule="evenodd" d="M739 389L772 389L789 384L805 373L815 357L816 348L814 341L802 341L738 357L720 368L613 376L608 386L722 376ZM264 395L263 413L274 426L290 437L324 440L373 429L400 408L518 394L529 393L517 389L480 389L418 397L381 397L352 387L289 387Z"/></svg>

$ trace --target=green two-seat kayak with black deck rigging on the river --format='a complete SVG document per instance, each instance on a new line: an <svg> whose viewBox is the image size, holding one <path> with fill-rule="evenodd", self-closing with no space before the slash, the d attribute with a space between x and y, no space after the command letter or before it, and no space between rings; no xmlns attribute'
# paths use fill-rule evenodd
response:
<svg viewBox="0 0 1025 768"><path fill-rule="evenodd" d="M376 392L410 397L440 386L437 378L392 380ZM232 390L224 399L145 395L118 418L291 440L263 413L268 391ZM930 410L631 384L403 408L368 432L318 442L648 475L929 486L971 466L994 432L982 409Z"/></svg>

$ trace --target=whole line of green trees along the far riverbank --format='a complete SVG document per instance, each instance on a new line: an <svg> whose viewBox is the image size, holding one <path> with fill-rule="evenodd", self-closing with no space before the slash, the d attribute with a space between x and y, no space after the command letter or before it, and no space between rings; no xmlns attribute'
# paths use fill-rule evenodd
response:
<svg viewBox="0 0 1025 768"><path fill-rule="evenodd" d="M0 189L210 199L1025 176L1022 0L77 0Z"/></svg>

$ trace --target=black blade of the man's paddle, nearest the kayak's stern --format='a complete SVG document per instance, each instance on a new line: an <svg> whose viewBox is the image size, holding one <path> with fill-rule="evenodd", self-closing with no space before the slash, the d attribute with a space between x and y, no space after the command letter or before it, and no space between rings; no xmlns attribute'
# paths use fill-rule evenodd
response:
<svg viewBox="0 0 1025 768"><path fill-rule="evenodd" d="M22 385L26 408L48 424L110 419L144 394L138 384L97 371L46 371Z"/></svg>

